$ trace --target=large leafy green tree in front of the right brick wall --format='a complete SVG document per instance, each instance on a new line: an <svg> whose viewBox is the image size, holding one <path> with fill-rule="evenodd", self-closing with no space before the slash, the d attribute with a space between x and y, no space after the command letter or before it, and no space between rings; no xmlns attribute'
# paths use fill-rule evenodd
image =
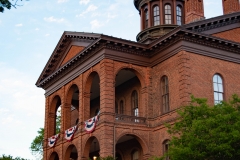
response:
<svg viewBox="0 0 240 160"><path fill-rule="evenodd" d="M240 159L240 98L209 106L194 98L179 110L180 118L168 124L172 139L165 156L171 160ZM162 157L163 158L163 157Z"/></svg>

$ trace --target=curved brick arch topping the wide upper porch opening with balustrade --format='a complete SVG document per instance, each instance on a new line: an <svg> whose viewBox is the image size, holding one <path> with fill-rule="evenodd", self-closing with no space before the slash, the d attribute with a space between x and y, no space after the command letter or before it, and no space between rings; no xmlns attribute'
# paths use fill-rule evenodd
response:
<svg viewBox="0 0 240 160"><path fill-rule="evenodd" d="M115 83L116 83L117 74L123 69L129 69L130 71L132 71L138 77L138 79L140 81L140 85L141 85L142 88L146 86L146 83L144 81L144 73L142 71L138 70L135 67L131 68L131 67L127 67L127 66L122 66L115 71L115 73L114 73L114 76L115 76L114 82Z"/></svg>

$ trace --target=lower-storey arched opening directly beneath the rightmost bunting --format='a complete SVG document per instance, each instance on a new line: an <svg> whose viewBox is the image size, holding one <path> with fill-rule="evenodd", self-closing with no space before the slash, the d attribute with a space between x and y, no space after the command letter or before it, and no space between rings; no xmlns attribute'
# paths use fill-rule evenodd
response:
<svg viewBox="0 0 240 160"><path fill-rule="evenodd" d="M83 157L94 160L94 158L99 157L100 145L96 137L91 137L87 140Z"/></svg>

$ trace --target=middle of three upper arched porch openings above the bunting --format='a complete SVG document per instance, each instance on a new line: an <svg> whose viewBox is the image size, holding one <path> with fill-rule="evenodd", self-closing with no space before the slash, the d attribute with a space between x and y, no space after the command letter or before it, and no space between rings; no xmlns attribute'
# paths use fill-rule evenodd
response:
<svg viewBox="0 0 240 160"><path fill-rule="evenodd" d="M65 129L71 128L79 122L79 89L77 85L72 85L67 94L67 107L65 117Z"/></svg>

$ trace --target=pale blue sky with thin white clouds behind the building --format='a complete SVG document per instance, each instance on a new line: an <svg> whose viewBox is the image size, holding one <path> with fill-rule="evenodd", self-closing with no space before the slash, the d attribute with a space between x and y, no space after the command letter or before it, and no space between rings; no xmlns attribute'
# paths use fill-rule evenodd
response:
<svg viewBox="0 0 240 160"><path fill-rule="evenodd" d="M29 0L0 13L0 155L36 159L30 144L44 126L44 90L35 83L64 31L135 41L133 0ZM205 17L222 15L222 0L204 1Z"/></svg>

